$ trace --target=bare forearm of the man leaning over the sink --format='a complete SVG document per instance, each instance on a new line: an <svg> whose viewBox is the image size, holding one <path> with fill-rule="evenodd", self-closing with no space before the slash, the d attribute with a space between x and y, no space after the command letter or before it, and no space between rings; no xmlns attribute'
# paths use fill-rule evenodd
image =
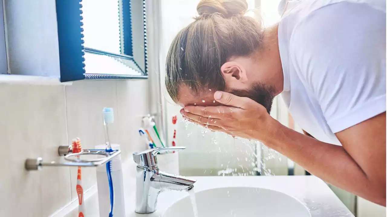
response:
<svg viewBox="0 0 387 217"><path fill-rule="evenodd" d="M315 176L385 206L384 189L375 186L342 146L318 141L283 125L264 143Z"/></svg>

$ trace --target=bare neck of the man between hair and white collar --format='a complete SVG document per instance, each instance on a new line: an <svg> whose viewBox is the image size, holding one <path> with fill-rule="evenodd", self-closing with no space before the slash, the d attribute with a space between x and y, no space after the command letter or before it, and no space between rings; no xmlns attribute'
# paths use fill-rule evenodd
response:
<svg viewBox="0 0 387 217"><path fill-rule="evenodd" d="M269 83L274 87L276 95L284 90L284 74L278 47L278 24L267 27L263 34L262 59L271 73Z"/></svg>

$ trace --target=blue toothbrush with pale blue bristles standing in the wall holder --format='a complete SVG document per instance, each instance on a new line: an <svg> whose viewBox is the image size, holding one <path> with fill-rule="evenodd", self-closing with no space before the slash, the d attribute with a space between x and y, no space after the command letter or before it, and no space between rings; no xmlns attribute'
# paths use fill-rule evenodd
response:
<svg viewBox="0 0 387 217"><path fill-rule="evenodd" d="M114 122L114 112L113 108L103 108L103 125L105 128L105 143L106 143L106 152L112 152L108 124ZM113 180L111 179L111 161L106 163L106 173L108 174L109 190L110 190L110 213L109 217L113 217L113 207L114 207L114 189L113 189Z"/></svg>

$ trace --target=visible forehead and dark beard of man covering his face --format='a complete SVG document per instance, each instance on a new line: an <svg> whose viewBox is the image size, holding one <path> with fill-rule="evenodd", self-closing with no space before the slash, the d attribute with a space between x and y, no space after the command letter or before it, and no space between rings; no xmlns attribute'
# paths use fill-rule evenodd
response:
<svg viewBox="0 0 387 217"><path fill-rule="evenodd" d="M275 97L274 88L270 86L264 86L261 84L254 84L248 90L230 89L230 90L225 90L225 92L232 93L238 97L250 98L255 102L263 105L269 114L271 111L273 99ZM188 86L181 85L179 90L179 96L178 96L178 104L182 107L185 107L188 105L198 105L198 106L221 105L220 103L215 101L214 93L215 93L214 90L208 89L208 90L203 90L198 94L194 94Z"/></svg>

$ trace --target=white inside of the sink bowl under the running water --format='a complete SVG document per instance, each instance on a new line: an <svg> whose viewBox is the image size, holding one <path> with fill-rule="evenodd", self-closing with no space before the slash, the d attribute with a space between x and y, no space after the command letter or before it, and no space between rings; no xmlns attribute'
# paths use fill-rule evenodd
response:
<svg viewBox="0 0 387 217"><path fill-rule="evenodd" d="M195 188L194 188L195 189ZM310 217L305 205L281 192L265 188L212 188L195 193L198 217ZM190 197L166 209L162 217L194 217Z"/></svg>

